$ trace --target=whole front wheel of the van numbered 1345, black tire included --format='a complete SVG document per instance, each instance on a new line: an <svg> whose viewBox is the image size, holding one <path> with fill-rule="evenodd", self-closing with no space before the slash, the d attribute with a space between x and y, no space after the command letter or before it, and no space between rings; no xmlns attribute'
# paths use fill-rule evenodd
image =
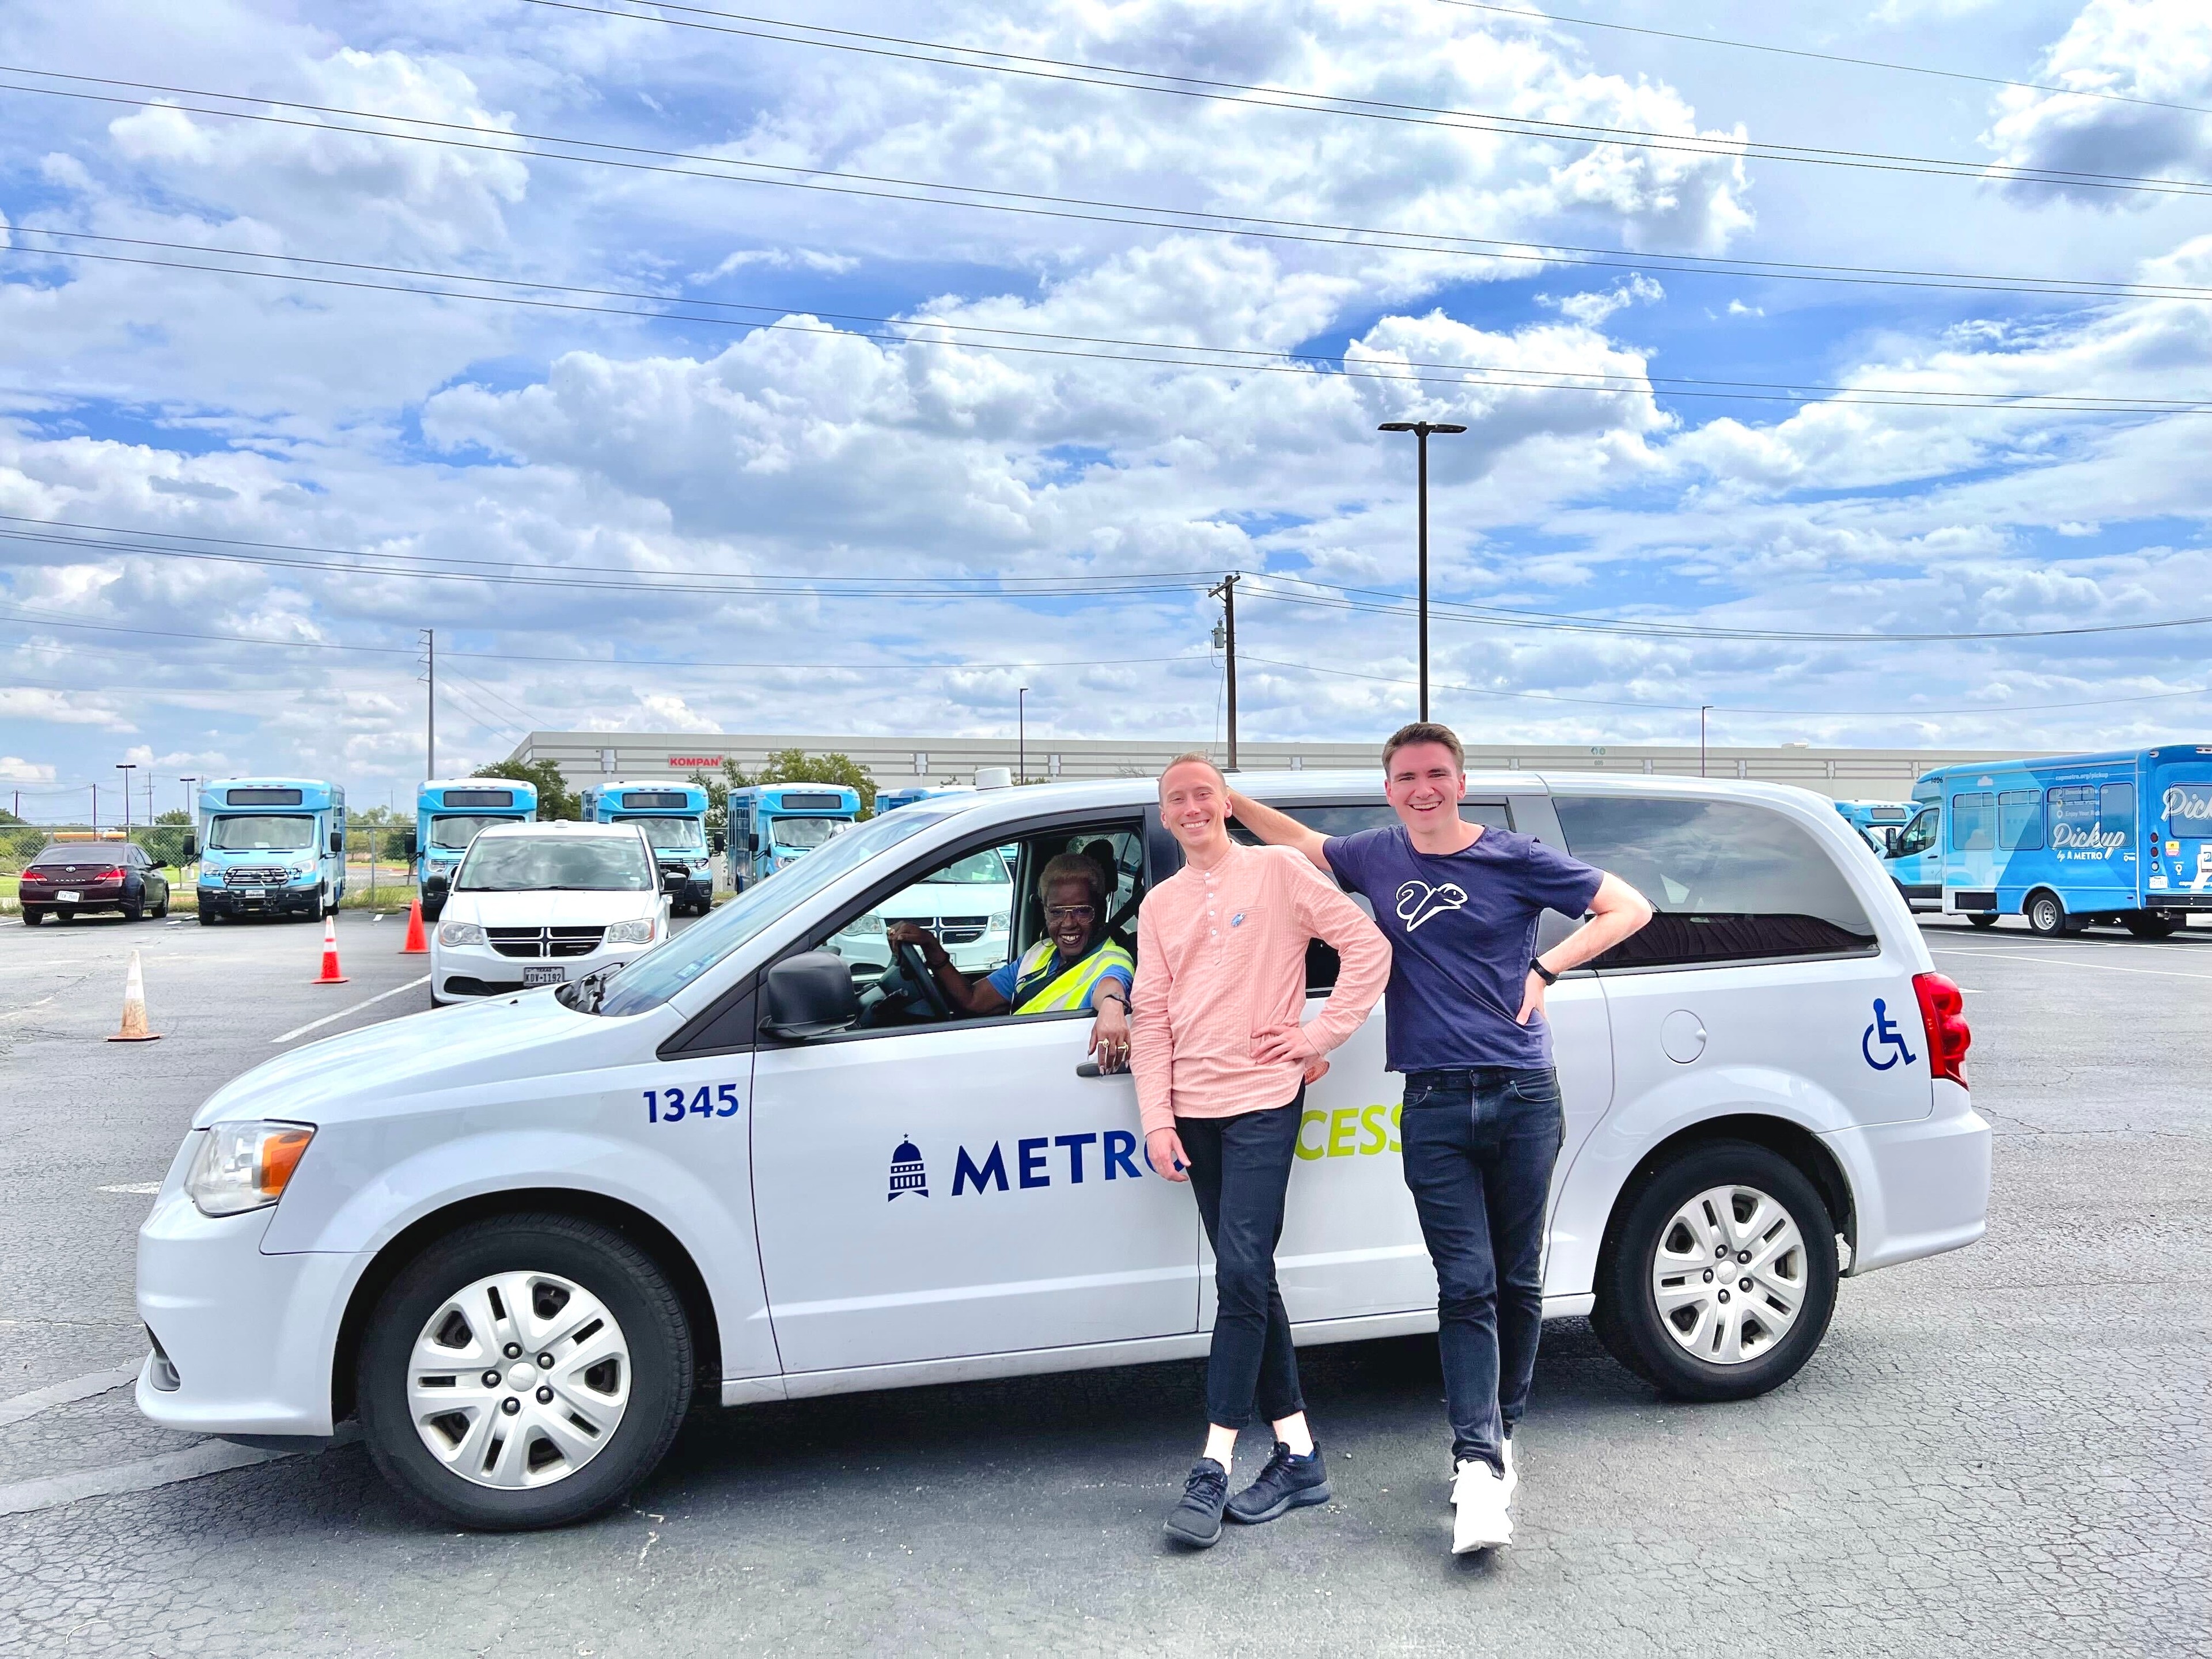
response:
<svg viewBox="0 0 2212 1659"><path fill-rule="evenodd" d="M502 1287L509 1296L493 1301ZM533 1316L518 1332L511 1316L500 1325L491 1310L507 1307L520 1287L533 1296ZM546 1316L573 1296L595 1301L584 1343L557 1334L557 1312ZM509 1358L504 1343L487 1352L502 1332L568 1345L551 1371L557 1394L540 1383L531 1354ZM425 1405L431 1389L416 1378L438 1376L447 1354L456 1409L436 1411L436 1402ZM484 1387L484 1376L495 1385ZM690 1327L668 1279L622 1234L562 1214L476 1221L422 1250L378 1298L356 1376L363 1438L385 1480L445 1522L484 1531L564 1526L615 1504L668 1453L690 1394ZM504 1413L504 1402L518 1409ZM602 1425L604 1440L573 1427L582 1411ZM515 1429L502 1433L500 1425ZM555 1436L566 1436L566 1447ZM480 1473L460 1473L462 1462Z"/></svg>

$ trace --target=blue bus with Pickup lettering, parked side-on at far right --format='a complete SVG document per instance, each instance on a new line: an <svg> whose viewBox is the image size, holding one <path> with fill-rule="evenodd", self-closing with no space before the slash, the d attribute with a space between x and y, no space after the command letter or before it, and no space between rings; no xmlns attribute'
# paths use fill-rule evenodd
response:
<svg viewBox="0 0 2212 1659"><path fill-rule="evenodd" d="M2166 938L2212 911L2212 743L1947 765L1920 787L1940 796L1947 916Z"/></svg>

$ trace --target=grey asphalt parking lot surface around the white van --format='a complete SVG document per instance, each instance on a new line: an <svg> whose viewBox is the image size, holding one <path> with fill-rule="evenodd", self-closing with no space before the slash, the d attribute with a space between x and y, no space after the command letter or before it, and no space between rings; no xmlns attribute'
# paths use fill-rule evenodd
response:
<svg viewBox="0 0 2212 1659"><path fill-rule="evenodd" d="M1520 1542L1455 1562L1429 1340L1310 1349L1336 1500L1199 1557L1159 1542L1190 1365L699 1413L542 1535L438 1531L358 1447L226 1469L115 1385L148 1183L221 1082L427 1006L425 958L358 914L343 987L305 925L0 927L0 1655L2212 1652L2212 929L1927 933L1989 1239L1847 1281L1745 1405L1551 1325ZM155 1044L104 1042L131 949Z"/></svg>

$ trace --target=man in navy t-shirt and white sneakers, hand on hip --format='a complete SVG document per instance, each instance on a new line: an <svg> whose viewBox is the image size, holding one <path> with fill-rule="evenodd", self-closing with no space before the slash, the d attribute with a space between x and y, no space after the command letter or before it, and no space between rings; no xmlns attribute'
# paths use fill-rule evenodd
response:
<svg viewBox="0 0 2212 1659"><path fill-rule="evenodd" d="M1405 1073L1405 1183L1436 1263L1458 1555L1513 1542L1511 1436L1535 1374L1544 1203L1564 1135L1544 989L1652 907L1533 836L1467 823L1467 759L1449 726L1394 732L1383 790L1398 825L1356 836L1321 836L1237 792L1230 807L1365 894L1391 945L1387 1064ZM1590 922L1537 956L1546 909Z"/></svg>

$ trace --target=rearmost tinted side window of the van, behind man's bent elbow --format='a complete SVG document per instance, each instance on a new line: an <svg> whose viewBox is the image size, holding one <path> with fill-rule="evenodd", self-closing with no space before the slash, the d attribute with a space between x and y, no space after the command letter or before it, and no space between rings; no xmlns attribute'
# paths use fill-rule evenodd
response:
<svg viewBox="0 0 2212 1659"><path fill-rule="evenodd" d="M1555 796L1566 849L1652 902L1597 969L1871 956L1874 922L1803 827L1743 801Z"/></svg>

